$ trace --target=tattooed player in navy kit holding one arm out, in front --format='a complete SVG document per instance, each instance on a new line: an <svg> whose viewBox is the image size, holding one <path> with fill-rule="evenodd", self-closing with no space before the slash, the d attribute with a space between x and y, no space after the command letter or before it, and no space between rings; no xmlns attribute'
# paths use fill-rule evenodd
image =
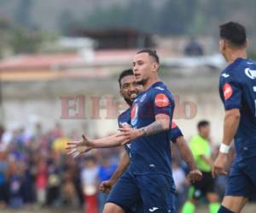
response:
<svg viewBox="0 0 256 213"><path fill-rule="evenodd" d="M94 140L94 143L83 136L82 141L70 147L79 149L79 144L84 143L87 148L81 151L88 151L95 144L111 147L131 143L129 170L119 180L125 190L111 192L109 197L115 200L108 199L104 213L124 212L139 197L143 200L144 212L175 212L169 143L174 100L166 85L159 81L159 67L159 57L150 49L143 49L134 57L133 72L137 83L143 85L143 92L132 104L131 127L125 125L119 129L121 134ZM119 194L113 196L114 192Z"/></svg>

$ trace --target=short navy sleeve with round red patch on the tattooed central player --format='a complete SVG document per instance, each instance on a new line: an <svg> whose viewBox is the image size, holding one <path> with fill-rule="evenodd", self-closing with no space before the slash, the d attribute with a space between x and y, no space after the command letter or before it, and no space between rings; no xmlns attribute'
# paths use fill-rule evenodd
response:
<svg viewBox="0 0 256 213"><path fill-rule="evenodd" d="M166 114L172 115L174 101L166 90L157 90L154 93L154 115Z"/></svg>

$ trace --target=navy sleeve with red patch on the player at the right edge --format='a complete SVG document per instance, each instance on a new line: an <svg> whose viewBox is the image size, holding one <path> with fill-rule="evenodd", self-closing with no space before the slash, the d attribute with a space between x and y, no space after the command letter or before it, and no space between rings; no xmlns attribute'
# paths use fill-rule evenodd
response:
<svg viewBox="0 0 256 213"><path fill-rule="evenodd" d="M225 110L241 108L242 90L240 83L232 76L221 76L219 82L219 94L224 102Z"/></svg>

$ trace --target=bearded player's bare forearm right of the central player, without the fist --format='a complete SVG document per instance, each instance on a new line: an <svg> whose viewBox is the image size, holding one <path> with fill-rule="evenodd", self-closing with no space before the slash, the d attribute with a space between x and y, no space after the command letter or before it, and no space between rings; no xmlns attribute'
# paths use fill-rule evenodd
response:
<svg viewBox="0 0 256 213"><path fill-rule="evenodd" d="M189 146L187 145L186 141L183 139L183 136L180 136L176 140L176 146L181 154L183 160L186 162L186 164L189 165L190 170L196 170L197 167L195 165L195 160L193 157L193 154L191 153Z"/></svg>

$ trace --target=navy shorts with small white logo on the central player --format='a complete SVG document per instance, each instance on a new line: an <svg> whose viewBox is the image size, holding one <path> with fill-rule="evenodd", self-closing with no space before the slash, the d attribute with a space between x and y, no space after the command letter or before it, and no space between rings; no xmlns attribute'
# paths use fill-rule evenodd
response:
<svg viewBox="0 0 256 213"><path fill-rule="evenodd" d="M130 170L119 178L108 196L125 212L175 213L175 192L170 176L134 176Z"/></svg>

